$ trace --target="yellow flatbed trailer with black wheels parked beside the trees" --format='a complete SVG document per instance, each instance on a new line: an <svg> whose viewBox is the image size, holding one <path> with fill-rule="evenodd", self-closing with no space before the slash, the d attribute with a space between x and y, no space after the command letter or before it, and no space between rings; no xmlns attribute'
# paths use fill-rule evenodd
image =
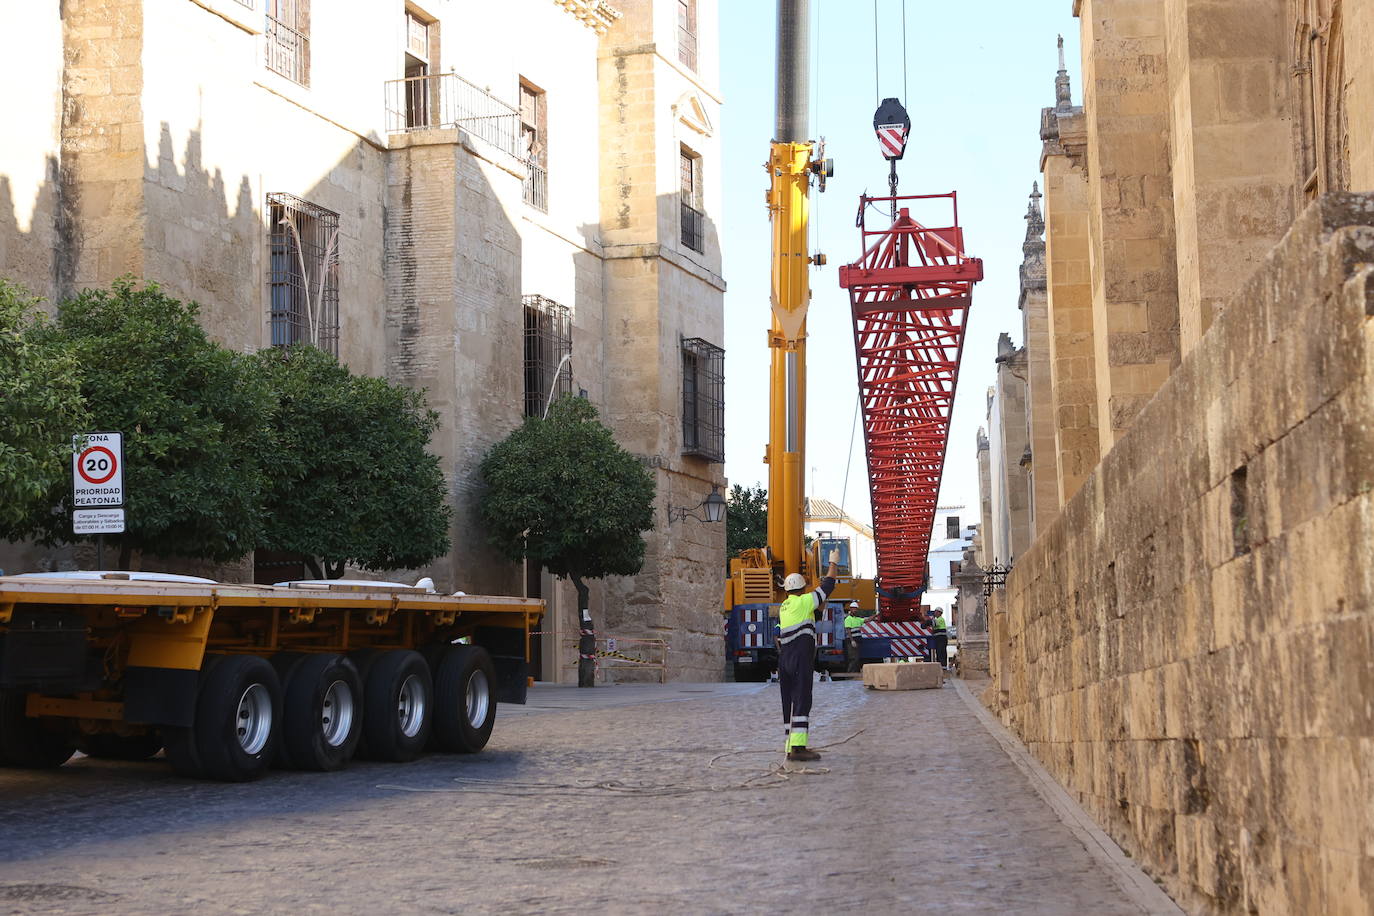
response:
<svg viewBox="0 0 1374 916"><path fill-rule="evenodd" d="M0 765L76 750L242 781L485 747L537 599L389 584L0 577Z"/></svg>

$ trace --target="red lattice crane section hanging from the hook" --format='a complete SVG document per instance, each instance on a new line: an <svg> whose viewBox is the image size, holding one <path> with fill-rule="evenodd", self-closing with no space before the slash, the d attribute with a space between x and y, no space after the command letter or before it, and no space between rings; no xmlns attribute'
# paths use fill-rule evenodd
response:
<svg viewBox="0 0 1374 916"><path fill-rule="evenodd" d="M914 207L948 210L951 222L925 227ZM883 222L896 217L868 229L870 210L883 213ZM849 290L859 356L878 608L886 621L910 621L927 584L963 332L982 261L963 251L955 194L864 196L857 225L863 255L840 268L840 286Z"/></svg>

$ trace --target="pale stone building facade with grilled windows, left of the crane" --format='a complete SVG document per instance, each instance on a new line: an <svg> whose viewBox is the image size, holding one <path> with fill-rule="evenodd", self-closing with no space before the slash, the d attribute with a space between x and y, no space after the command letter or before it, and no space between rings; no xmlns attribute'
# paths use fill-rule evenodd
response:
<svg viewBox="0 0 1374 916"><path fill-rule="evenodd" d="M662 511L724 482L714 0L92 0L0 22L26 36L5 85L27 87L0 102L0 275L59 299L132 273L235 349L309 339L425 389L453 551L404 575L548 600L550 680L572 676L573 591L485 547L477 466L550 393L585 393L660 507L643 573L594 589L598 625L719 676L723 526Z"/></svg>

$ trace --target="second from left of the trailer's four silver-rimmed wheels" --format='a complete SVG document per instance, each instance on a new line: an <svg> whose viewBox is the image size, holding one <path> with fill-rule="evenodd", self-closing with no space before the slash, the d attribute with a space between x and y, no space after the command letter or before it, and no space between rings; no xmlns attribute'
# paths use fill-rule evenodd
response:
<svg viewBox="0 0 1374 916"><path fill-rule="evenodd" d="M295 769L342 769L363 735L363 680L342 655L306 655L291 666L282 754Z"/></svg>

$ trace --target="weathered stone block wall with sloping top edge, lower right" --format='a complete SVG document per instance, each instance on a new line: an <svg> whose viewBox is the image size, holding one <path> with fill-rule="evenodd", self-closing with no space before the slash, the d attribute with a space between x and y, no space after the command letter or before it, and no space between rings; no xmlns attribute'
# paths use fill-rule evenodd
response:
<svg viewBox="0 0 1374 916"><path fill-rule="evenodd" d="M1374 900L1371 316L1322 198L989 608L988 702L1191 912Z"/></svg>

